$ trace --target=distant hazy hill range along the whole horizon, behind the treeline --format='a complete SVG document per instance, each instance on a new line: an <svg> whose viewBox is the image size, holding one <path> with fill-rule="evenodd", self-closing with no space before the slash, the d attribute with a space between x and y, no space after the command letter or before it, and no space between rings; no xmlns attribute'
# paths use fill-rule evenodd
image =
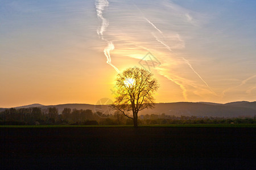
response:
<svg viewBox="0 0 256 170"><path fill-rule="evenodd" d="M92 104L59 104L59 105L42 105L31 104L25 105L19 108L40 107L46 109L49 107L56 107L59 113L64 108L71 109L90 109L96 112L96 108L99 105ZM104 106L103 108L107 108ZM0 108L0 112L5 108ZM139 114L169 114L174 116L212 116L212 117L253 117L256 114L256 101L236 101L232 103L220 104L220 103L208 103L208 102L177 102L177 103L157 103L154 109L144 109Z"/></svg>

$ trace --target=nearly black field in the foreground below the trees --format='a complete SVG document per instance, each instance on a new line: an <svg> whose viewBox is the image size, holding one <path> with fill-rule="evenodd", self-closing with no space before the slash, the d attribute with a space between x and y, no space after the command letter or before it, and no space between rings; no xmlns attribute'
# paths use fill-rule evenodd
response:
<svg viewBox="0 0 256 170"><path fill-rule="evenodd" d="M0 128L1 169L254 169L256 128Z"/></svg>

